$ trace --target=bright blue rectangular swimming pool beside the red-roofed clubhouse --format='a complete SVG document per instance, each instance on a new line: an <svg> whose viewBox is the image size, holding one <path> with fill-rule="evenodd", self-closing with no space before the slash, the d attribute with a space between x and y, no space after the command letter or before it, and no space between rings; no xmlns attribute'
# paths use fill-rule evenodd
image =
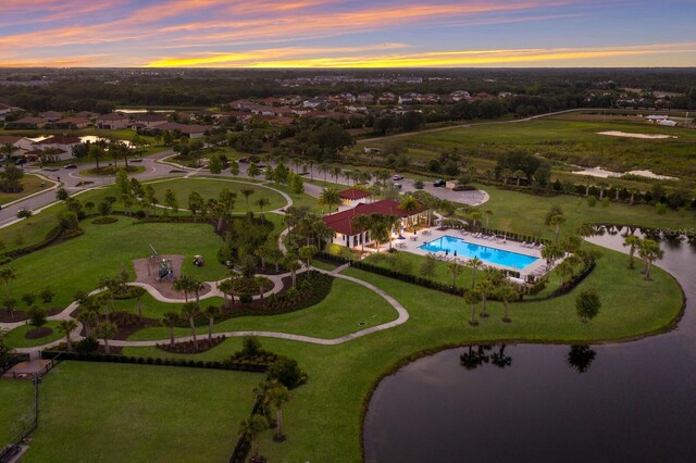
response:
<svg viewBox="0 0 696 463"><path fill-rule="evenodd" d="M434 239L433 241L421 246L419 249L428 252L449 251L449 255L455 255L456 251L458 256L469 259L476 256L484 262L505 265L506 267L517 270L522 270L531 263L538 261L538 258L533 255L519 254L517 252L504 251L502 249L474 245L473 242L467 242L461 238L447 235Z"/></svg>

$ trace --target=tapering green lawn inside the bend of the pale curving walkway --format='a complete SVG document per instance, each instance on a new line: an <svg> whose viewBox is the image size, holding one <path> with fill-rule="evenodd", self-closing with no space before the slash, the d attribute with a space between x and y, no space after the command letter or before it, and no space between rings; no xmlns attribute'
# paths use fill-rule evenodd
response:
<svg viewBox="0 0 696 463"><path fill-rule="evenodd" d="M208 301L201 301L201 305L207 304ZM394 308L382 297L360 285L337 278L326 299L316 305L283 315L229 318L215 324L214 330L215 333L279 331L333 339L390 322L396 317ZM359 325L361 322L364 325ZM174 333L175 336L189 336L190 329L176 328ZM207 334L208 326L198 327L197 333ZM169 336L169 328L153 327L134 333L128 340L166 340Z"/></svg>

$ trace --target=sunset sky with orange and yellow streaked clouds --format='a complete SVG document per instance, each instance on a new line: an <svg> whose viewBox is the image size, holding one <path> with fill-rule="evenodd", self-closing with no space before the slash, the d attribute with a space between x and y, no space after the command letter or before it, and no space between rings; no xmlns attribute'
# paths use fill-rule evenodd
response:
<svg viewBox="0 0 696 463"><path fill-rule="evenodd" d="M694 0L1 0L0 66L696 66Z"/></svg>

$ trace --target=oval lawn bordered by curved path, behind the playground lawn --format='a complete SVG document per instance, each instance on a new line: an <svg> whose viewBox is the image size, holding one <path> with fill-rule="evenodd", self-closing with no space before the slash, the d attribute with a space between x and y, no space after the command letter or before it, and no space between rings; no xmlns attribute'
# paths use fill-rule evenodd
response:
<svg viewBox="0 0 696 463"><path fill-rule="evenodd" d="M188 207L188 195L191 191L197 191L200 196L203 197L203 199L209 199L216 198L223 188L227 188L229 191L237 193L234 212L246 212L246 198L240 192L240 190L246 188L253 190L253 193L249 197L250 211L259 212L259 208L254 205L254 202L261 198L265 198L271 201L269 205L263 208L264 211L284 208L287 203L285 198L273 190L257 185L249 185L229 180L224 177L215 179L209 177L176 178L165 182L156 180L150 185L152 185L152 187L154 188L160 204L164 204L164 192L166 191L166 189L174 190L179 203L179 208L182 209L186 209Z"/></svg>

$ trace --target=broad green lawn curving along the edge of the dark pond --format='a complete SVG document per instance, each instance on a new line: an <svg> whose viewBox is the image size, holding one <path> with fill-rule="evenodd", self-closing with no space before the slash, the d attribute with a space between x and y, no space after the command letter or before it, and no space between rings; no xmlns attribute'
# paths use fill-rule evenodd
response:
<svg viewBox="0 0 696 463"><path fill-rule="evenodd" d="M361 410L374 383L397 362L415 352L476 341L527 340L592 342L636 336L668 326L679 314L676 283L656 270L652 281L625 268L625 255L605 251L596 271L572 293L545 302L515 303L512 323L501 322L502 304L489 304L492 316L478 327L467 321L470 308L458 297L426 290L378 275L347 270L396 297L409 311L408 323L343 345L322 347L262 339L263 347L298 360L309 381L293 391L284 408L288 440L272 442L265 433L261 452L274 462L360 461ZM574 313L575 295L597 288L602 309L591 323ZM221 360L239 348L229 339L196 359ZM128 355L152 355L154 349L128 348Z"/></svg>

